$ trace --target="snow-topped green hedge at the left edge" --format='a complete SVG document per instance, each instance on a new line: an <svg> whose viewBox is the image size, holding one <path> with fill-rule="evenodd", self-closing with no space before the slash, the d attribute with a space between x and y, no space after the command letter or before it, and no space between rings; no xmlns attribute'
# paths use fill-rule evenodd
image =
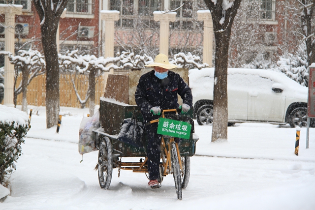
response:
<svg viewBox="0 0 315 210"><path fill-rule="evenodd" d="M0 183L8 184L7 176L16 170L22 154L21 144L30 129L29 118L25 112L0 105Z"/></svg>

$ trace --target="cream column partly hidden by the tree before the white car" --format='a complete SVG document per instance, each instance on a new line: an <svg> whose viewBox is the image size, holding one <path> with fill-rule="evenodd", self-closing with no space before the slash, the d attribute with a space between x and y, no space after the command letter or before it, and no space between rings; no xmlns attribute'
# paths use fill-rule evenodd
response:
<svg viewBox="0 0 315 210"><path fill-rule="evenodd" d="M212 67L213 23L210 10L198 10L198 20L203 21L203 62Z"/></svg>

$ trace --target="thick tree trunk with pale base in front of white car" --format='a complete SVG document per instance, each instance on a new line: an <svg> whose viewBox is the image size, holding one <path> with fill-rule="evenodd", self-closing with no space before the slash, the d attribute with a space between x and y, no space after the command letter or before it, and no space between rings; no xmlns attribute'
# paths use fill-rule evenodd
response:
<svg viewBox="0 0 315 210"><path fill-rule="evenodd" d="M216 39L215 81L213 90L212 142L227 140L227 63L231 28L242 0L228 7L224 0L205 0L212 16ZM229 1L232 2L232 1Z"/></svg>

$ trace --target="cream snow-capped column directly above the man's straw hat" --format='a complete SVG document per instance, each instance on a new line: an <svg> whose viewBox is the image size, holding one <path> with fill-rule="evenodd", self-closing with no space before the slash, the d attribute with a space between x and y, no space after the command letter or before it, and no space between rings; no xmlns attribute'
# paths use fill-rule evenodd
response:
<svg viewBox="0 0 315 210"><path fill-rule="evenodd" d="M154 11L154 20L159 21L159 53L168 56L169 22L176 20L176 12Z"/></svg>

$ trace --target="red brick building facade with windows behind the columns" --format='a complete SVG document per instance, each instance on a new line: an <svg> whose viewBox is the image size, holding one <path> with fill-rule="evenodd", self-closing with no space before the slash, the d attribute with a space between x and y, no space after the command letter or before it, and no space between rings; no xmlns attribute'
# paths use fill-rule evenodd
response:
<svg viewBox="0 0 315 210"><path fill-rule="evenodd" d="M258 0L260 5L260 34L263 50L279 52L285 40L285 31L291 26L284 14L284 0ZM290 0L291 1L291 0ZM0 3L22 4L22 15L15 17L16 49L41 49L39 18L32 0L0 0ZM182 7L180 7L183 5ZM202 56L203 23L197 20L197 10L207 9L202 0L69 0L66 16L60 20L60 50L79 49L83 53L101 56L104 53L104 21L101 10L118 10L120 19L115 22L115 52L132 50L135 53L158 53L159 25L153 19L153 11L173 10L176 21L170 23L170 56L192 52ZM249 13L250 13L249 9ZM4 15L0 16L0 23ZM234 23L235 24L235 23ZM0 50L4 49L4 27L0 25ZM231 43L233 48L233 43ZM0 62L0 66L3 65Z"/></svg>

